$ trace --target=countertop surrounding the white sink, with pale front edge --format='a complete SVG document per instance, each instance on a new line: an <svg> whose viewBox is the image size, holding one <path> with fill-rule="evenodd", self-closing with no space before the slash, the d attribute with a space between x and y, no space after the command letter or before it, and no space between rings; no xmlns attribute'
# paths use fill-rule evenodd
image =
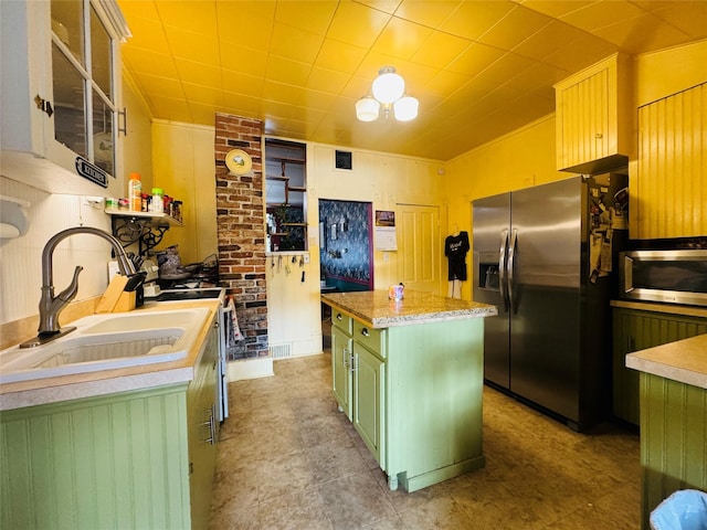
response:
<svg viewBox="0 0 707 530"><path fill-rule="evenodd" d="M199 360L201 347L211 330L211 320L213 319L213 315L219 310L219 304L220 301L214 299L165 303L152 304L131 311L163 311L194 307L209 308L210 311L194 342L194 347L183 359L114 370L4 383L0 385L0 411L189 382L193 379L194 364Z"/></svg>

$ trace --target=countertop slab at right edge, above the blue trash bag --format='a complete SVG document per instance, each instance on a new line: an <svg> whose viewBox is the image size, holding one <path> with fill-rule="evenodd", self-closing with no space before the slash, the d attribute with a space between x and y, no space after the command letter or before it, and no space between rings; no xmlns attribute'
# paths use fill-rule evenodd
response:
<svg viewBox="0 0 707 530"><path fill-rule="evenodd" d="M634 351L626 367L707 390L707 335Z"/></svg>

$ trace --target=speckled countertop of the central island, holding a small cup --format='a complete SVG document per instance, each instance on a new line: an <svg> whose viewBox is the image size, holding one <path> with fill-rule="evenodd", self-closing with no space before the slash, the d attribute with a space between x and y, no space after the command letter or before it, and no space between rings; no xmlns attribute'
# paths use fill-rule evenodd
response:
<svg viewBox="0 0 707 530"><path fill-rule="evenodd" d="M445 298L433 293L405 289L404 298L388 298L388 290L323 294L321 301L371 328L390 328L416 324L493 317L496 306Z"/></svg>

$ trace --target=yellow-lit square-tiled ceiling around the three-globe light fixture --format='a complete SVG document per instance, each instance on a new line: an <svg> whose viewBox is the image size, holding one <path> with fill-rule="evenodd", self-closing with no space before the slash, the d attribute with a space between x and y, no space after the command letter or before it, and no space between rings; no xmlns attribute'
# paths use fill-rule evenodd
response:
<svg viewBox="0 0 707 530"><path fill-rule="evenodd" d="M260 118L268 135L451 159L555 109L552 84L619 51L707 38L707 1L118 0L154 116ZM357 121L393 65L411 123Z"/></svg>

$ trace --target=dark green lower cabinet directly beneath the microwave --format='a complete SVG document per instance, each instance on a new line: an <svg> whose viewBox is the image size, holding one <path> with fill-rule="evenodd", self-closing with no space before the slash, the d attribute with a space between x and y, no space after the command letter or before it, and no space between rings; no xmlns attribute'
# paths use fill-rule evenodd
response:
<svg viewBox="0 0 707 530"><path fill-rule="evenodd" d="M639 425L639 372L627 353L707 333L707 319L641 309L613 308L613 413Z"/></svg>

